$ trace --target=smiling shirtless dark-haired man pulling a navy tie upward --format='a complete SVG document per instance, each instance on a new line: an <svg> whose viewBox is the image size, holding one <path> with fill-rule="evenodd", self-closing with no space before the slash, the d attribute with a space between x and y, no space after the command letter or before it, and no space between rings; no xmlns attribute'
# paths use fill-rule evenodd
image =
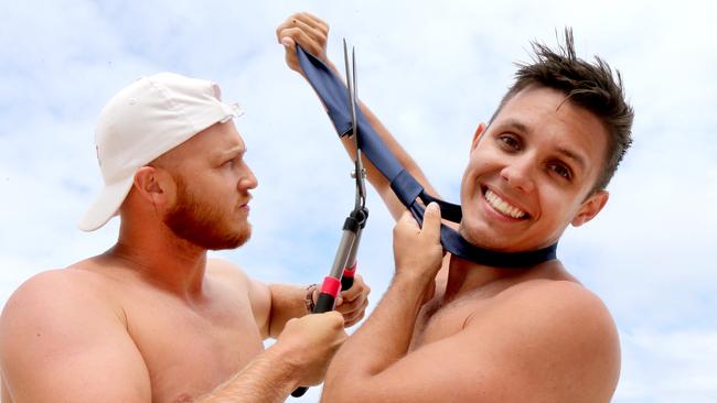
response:
<svg viewBox="0 0 717 403"><path fill-rule="evenodd" d="M324 61L328 25L291 15L277 29L287 64L295 44ZM608 202L606 186L631 143L632 108L601 59L535 44L488 126L469 150L458 228L472 244L501 252L554 244ZM436 195L416 163L365 107L403 165ZM352 142L344 140L351 150ZM523 270L442 255L440 211L422 229L367 163L368 178L398 220L395 275L364 325L334 358L323 401L609 402L620 372L616 325L603 303L558 260Z"/></svg>

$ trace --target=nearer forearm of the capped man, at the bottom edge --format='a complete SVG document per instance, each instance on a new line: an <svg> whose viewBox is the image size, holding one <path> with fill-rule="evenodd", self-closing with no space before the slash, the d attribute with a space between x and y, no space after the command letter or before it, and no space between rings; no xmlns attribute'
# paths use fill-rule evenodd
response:
<svg viewBox="0 0 717 403"><path fill-rule="evenodd" d="M210 394L196 399L196 403L283 402L299 386L292 374L293 368L282 359L276 345L257 356L242 372L237 373Z"/></svg>

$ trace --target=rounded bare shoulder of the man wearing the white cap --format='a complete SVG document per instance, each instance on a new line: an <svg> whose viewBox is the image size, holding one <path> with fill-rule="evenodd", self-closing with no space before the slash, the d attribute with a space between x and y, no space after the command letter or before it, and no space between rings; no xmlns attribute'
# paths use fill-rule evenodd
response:
<svg viewBox="0 0 717 403"><path fill-rule="evenodd" d="M86 269L78 264L36 274L6 303L0 361L19 401L150 399L147 369L111 292L116 281ZM104 378L87 381L98 368ZM133 386L115 388L110 380L125 375Z"/></svg>

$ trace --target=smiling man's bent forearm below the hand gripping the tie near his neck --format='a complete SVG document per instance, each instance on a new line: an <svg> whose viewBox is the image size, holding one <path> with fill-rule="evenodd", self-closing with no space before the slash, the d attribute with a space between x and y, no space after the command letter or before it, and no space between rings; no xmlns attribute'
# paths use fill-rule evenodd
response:
<svg viewBox="0 0 717 403"><path fill-rule="evenodd" d="M346 384L364 384L408 351L421 306L422 290L410 279L395 277L364 325L336 353L324 384L324 395L345 392ZM327 401L334 400L327 397Z"/></svg>

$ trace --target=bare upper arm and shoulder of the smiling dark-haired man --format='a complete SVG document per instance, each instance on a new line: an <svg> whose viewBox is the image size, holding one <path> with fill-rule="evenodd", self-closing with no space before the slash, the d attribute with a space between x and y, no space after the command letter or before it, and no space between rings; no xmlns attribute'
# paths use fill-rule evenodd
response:
<svg viewBox="0 0 717 403"><path fill-rule="evenodd" d="M617 336L601 303L579 288L552 284L507 298L346 388L372 402L609 401Z"/></svg>

